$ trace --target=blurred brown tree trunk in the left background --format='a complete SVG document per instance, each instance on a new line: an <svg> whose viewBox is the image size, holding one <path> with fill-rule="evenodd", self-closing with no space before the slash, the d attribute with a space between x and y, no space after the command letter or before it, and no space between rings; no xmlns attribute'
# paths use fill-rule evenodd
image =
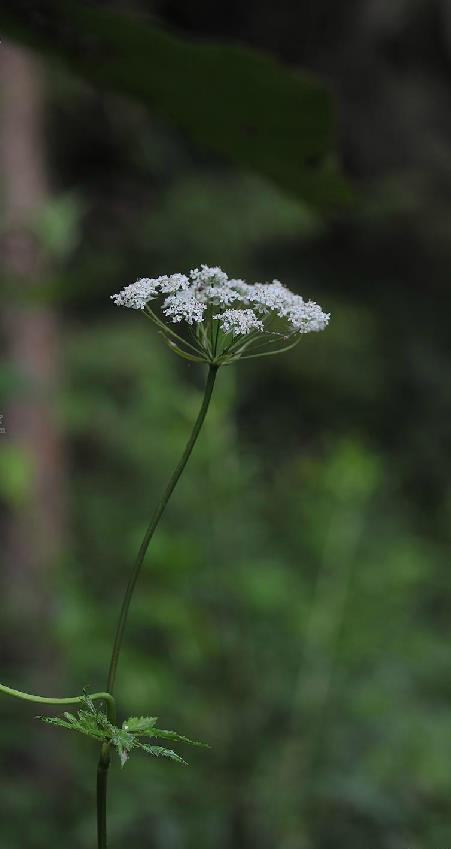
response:
<svg viewBox="0 0 451 849"><path fill-rule="evenodd" d="M48 273L48 260L33 230L48 201L39 64L22 48L2 44L0 79L1 253L8 289L4 346L14 374L14 389L1 410L6 433L0 434L0 450L17 452L27 470L21 497L7 505L2 618L8 620L8 612L19 621L25 618L29 652L30 629L37 635L48 633L50 576L61 546L62 451L55 409L58 319L54 308L36 297ZM40 642L35 646L38 653ZM22 655L20 640L11 644Z"/></svg>

